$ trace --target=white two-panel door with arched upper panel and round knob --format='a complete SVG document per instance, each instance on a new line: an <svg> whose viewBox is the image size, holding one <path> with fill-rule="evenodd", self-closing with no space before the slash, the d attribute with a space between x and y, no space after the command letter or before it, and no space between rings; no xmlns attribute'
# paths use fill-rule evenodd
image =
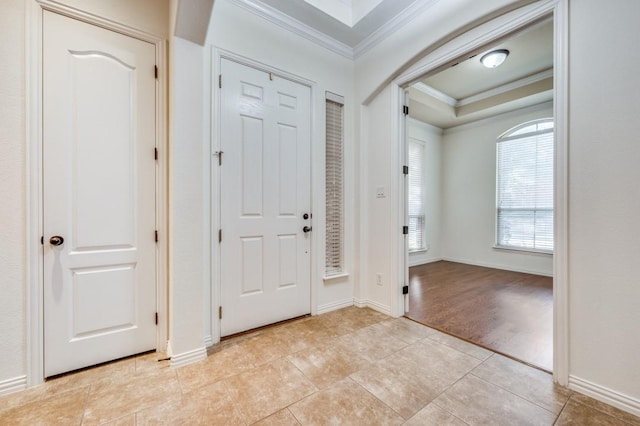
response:
<svg viewBox="0 0 640 426"><path fill-rule="evenodd" d="M155 47L43 14L45 376L156 347Z"/></svg>

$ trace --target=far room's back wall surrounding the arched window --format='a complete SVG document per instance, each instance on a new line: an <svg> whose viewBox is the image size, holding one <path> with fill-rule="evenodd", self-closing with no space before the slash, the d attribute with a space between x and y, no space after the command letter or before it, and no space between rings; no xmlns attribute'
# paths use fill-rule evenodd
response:
<svg viewBox="0 0 640 426"><path fill-rule="evenodd" d="M543 105L544 106L544 105ZM496 139L512 127L553 117L551 104L445 130L442 139L442 257L454 262L553 275L553 256L495 245Z"/></svg>

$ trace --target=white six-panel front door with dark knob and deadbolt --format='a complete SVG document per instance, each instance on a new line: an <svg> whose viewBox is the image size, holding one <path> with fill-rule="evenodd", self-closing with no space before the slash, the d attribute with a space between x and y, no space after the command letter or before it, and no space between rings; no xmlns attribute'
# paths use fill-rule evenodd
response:
<svg viewBox="0 0 640 426"><path fill-rule="evenodd" d="M311 312L311 90L225 59L221 73L227 336Z"/></svg>

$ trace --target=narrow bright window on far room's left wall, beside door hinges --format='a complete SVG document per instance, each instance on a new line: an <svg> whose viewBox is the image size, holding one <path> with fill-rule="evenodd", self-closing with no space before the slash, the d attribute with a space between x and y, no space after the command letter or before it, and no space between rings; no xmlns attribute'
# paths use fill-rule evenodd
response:
<svg viewBox="0 0 640 426"><path fill-rule="evenodd" d="M409 251L424 250L424 143L409 139Z"/></svg>

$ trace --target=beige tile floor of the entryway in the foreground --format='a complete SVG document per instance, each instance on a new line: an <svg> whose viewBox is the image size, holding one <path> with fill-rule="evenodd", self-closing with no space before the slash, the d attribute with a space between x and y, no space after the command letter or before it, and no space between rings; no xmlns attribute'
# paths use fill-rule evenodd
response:
<svg viewBox="0 0 640 426"><path fill-rule="evenodd" d="M146 354L0 398L0 425L640 425L551 376L405 318L346 308L172 368Z"/></svg>

